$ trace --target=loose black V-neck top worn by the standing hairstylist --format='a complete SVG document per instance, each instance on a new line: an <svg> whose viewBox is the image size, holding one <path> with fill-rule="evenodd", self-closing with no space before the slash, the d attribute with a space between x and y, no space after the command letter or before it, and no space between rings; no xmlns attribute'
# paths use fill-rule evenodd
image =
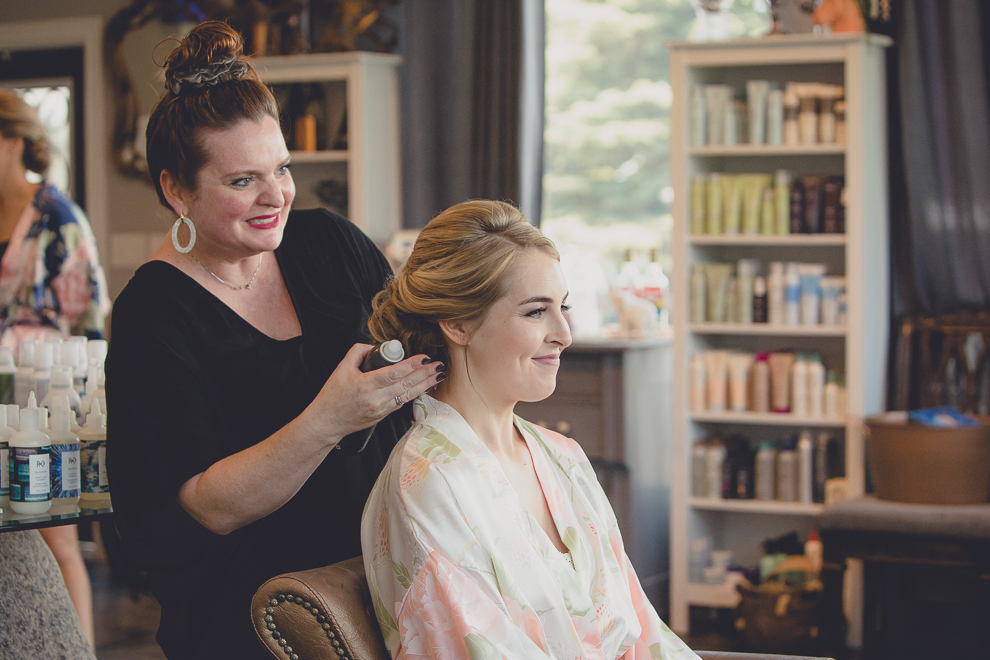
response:
<svg viewBox="0 0 990 660"><path fill-rule="evenodd" d="M408 406L357 456L331 451L278 511L226 536L179 506L179 487L285 426L347 350L367 342L391 274L371 240L326 211L293 211L275 250L302 334L263 334L162 261L117 298L107 358L108 468L129 559L148 572L169 658L268 658L250 620L262 582L361 554L361 512Z"/></svg>

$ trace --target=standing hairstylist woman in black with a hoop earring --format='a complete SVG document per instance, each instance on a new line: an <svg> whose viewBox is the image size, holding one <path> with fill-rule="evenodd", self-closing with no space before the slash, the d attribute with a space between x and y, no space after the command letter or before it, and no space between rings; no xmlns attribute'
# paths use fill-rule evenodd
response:
<svg viewBox="0 0 990 660"><path fill-rule="evenodd" d="M148 164L179 220L117 299L107 363L116 520L161 603L158 642L182 660L268 657L251 596L360 554L403 419L357 456L331 450L442 379L424 355L360 372L389 267L343 218L289 213L278 108L241 52L208 22L166 60Z"/></svg>

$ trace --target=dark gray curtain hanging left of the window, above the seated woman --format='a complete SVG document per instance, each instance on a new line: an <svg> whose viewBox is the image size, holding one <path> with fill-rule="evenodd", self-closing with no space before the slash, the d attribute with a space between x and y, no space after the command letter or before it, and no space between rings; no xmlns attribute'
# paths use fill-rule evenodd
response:
<svg viewBox="0 0 990 660"><path fill-rule="evenodd" d="M523 4L528 1L405 3L405 226L422 227L443 209L467 199L520 203L522 109L527 107L531 112L533 105L532 94L522 91ZM533 85L527 78L531 83L527 89L535 87L540 96L538 126L542 145L542 4L538 19L539 48L535 50L540 60L535 70L539 82ZM533 25L527 28L532 30ZM528 32L526 36L532 35ZM527 150L525 157L542 161L542 148L535 153ZM542 176L542 164L522 169L529 176L535 176L538 170Z"/></svg>

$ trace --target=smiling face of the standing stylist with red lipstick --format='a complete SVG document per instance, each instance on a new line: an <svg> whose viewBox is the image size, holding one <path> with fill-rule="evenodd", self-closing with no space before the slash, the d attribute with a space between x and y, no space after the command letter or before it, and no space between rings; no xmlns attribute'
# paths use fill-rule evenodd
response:
<svg viewBox="0 0 990 660"><path fill-rule="evenodd" d="M245 120L203 131L206 164L185 211L196 223L197 251L228 259L274 250L296 194L289 152L275 120Z"/></svg>

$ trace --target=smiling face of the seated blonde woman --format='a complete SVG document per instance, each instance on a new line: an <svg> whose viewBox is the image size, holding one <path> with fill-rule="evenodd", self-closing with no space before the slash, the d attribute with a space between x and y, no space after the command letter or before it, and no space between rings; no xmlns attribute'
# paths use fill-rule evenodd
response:
<svg viewBox="0 0 990 660"><path fill-rule="evenodd" d="M560 352L571 343L560 263L528 249L512 269L506 294L472 324L466 348L471 386L486 399L510 407L553 394Z"/></svg>

